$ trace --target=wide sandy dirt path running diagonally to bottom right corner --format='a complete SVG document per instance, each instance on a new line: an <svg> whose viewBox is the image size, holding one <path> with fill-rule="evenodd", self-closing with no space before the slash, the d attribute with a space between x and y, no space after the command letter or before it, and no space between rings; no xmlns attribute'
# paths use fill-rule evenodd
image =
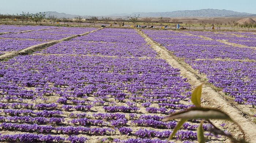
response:
<svg viewBox="0 0 256 143"><path fill-rule="evenodd" d="M150 44L153 49L155 49L160 58L165 59L170 65L174 68L179 68L181 75L184 78L188 79L188 82L191 86L199 86L203 83L200 80L203 80L202 77L198 76L199 74L195 74L188 70L188 67L184 67L184 65L180 64L176 59L175 56L172 55L167 49L164 47L160 47L156 44L152 39L150 39L146 34L142 31L139 31L139 34L145 38L147 44ZM193 69L192 69L193 70ZM234 119L237 123L241 125L243 130L246 134L246 139L251 142L255 142L256 140L256 124L252 123L249 119L246 118L246 115L238 110L238 108L232 106L230 103L227 102L221 94L215 91L213 88L208 86L208 84L204 84L202 87L202 103L204 106L218 108L222 111L225 111L232 119ZM234 126L233 123L227 122L229 126L229 131L234 136L241 137L241 132L237 130L237 127Z"/></svg>

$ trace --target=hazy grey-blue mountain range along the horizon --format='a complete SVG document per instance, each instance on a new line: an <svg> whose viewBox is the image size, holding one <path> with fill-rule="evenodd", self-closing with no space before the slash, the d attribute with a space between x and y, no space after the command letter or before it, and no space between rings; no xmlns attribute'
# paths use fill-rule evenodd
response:
<svg viewBox="0 0 256 143"><path fill-rule="evenodd" d="M79 15L70 15L66 13L58 13L47 11L46 15L56 15L58 18L66 17L69 19L74 18ZM127 18L129 15L140 15L140 17L251 17L256 16L256 14L246 13L246 12L236 12L229 11L226 9L200 9L200 10L185 10L185 11L172 11L172 12L134 12L131 14L121 13L121 14L112 14L112 15L104 15L107 17L123 17ZM88 15L82 16L84 18L88 18ZM99 16L102 17L102 16Z"/></svg>

